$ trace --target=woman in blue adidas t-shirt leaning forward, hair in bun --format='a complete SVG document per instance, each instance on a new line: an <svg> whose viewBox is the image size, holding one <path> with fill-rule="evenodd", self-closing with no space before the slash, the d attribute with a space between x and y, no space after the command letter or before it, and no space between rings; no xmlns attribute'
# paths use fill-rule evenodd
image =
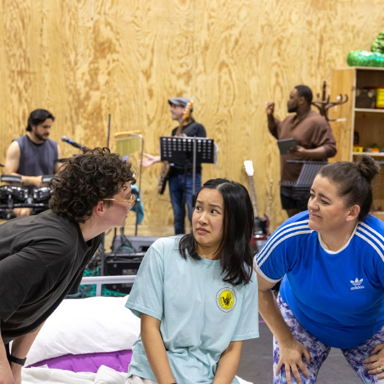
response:
<svg viewBox="0 0 384 384"><path fill-rule="evenodd" d="M384 378L384 223L368 214L378 172L367 155L325 165L308 211L285 221L254 257L276 384L314 383L330 347L362 382ZM270 288L282 277L276 302Z"/></svg>

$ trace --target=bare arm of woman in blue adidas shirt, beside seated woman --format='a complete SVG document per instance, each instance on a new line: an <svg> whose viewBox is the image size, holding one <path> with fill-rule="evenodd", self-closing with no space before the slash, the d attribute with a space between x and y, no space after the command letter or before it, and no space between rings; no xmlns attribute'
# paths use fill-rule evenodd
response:
<svg viewBox="0 0 384 384"><path fill-rule="evenodd" d="M278 307L276 298L272 292L274 282L267 281L256 270L258 283L258 311L260 312L268 328L273 333L279 344L280 358L278 360L275 375L278 374L282 365L285 365L285 374L288 384L291 384L291 373L301 384L298 368L305 377L309 377L308 371L302 361L301 356L304 355L307 363L310 363L310 355L303 344L297 341L286 325L284 318Z"/></svg>

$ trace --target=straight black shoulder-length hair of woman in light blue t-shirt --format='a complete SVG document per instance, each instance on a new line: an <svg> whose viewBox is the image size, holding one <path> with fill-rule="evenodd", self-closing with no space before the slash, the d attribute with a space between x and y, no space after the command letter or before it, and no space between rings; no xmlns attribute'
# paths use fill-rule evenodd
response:
<svg viewBox="0 0 384 384"><path fill-rule="evenodd" d="M247 284L252 275L253 261L250 249L253 207L248 191L238 182L226 178L206 181L199 193L206 188L218 190L224 203L222 238L216 251L220 258L222 279L232 285ZM196 249L192 231L181 237L179 251L182 257L186 259L189 255L196 260L200 259Z"/></svg>

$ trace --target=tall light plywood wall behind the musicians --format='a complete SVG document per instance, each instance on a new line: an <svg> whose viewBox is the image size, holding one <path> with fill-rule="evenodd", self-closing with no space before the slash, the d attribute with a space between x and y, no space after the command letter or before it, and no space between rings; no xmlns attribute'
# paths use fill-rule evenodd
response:
<svg viewBox="0 0 384 384"><path fill-rule="evenodd" d="M247 185L253 161L260 213L280 224L279 161L264 102L286 113L290 89L321 92L351 49L369 49L384 28L382 0L0 0L0 162L29 112L49 109L51 136L94 147L138 130L144 150L176 124L167 98L194 96L194 117L216 141L217 166L203 180ZM108 141L108 115L110 135ZM63 156L76 149L60 142ZM138 235L172 234L167 191L156 195L160 164L143 169ZM126 230L132 234L134 215Z"/></svg>

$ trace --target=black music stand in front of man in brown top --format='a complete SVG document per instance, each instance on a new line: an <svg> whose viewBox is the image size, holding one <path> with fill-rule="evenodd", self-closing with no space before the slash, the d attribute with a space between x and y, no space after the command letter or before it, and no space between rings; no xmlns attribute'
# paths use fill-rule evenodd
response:
<svg viewBox="0 0 384 384"><path fill-rule="evenodd" d="M327 164L326 161L303 161L303 160L287 160L281 176L280 185L293 187L292 196L301 196L303 192L309 191L317 172ZM296 179L291 179L290 175L299 174Z"/></svg>

